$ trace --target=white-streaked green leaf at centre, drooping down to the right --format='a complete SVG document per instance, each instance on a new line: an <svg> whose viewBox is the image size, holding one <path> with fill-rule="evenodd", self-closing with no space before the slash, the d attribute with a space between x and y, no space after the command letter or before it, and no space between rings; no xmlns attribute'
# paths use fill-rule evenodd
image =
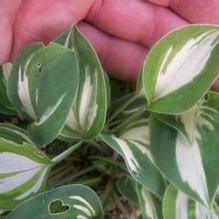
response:
<svg viewBox="0 0 219 219"><path fill-rule="evenodd" d="M161 197L165 185L162 176L154 165L148 145L147 121L144 125L130 127L121 136L102 134L102 140L125 160L127 168L141 185L156 196Z"/></svg>

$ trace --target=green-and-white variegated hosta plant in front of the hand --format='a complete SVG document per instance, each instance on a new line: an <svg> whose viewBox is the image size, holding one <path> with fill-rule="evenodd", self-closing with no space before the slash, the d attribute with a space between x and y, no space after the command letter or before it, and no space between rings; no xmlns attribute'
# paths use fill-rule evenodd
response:
<svg viewBox="0 0 219 219"><path fill-rule="evenodd" d="M0 218L219 219L219 27L108 78L77 27L0 68ZM89 186L89 187L88 187Z"/></svg>

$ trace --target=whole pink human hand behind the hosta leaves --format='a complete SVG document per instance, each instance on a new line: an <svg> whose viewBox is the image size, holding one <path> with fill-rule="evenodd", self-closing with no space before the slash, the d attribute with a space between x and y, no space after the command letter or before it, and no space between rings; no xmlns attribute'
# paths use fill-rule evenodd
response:
<svg viewBox="0 0 219 219"><path fill-rule="evenodd" d="M188 23L219 24L218 0L0 0L0 64L70 25L92 42L116 78L135 80L154 43ZM219 80L214 88L219 90Z"/></svg>

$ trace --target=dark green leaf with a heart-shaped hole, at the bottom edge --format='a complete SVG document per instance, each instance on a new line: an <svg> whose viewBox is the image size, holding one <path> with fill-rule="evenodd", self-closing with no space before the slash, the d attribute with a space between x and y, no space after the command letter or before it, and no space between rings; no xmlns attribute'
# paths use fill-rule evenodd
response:
<svg viewBox="0 0 219 219"><path fill-rule="evenodd" d="M6 219L102 219L103 209L93 190L68 185L42 193L15 208Z"/></svg>

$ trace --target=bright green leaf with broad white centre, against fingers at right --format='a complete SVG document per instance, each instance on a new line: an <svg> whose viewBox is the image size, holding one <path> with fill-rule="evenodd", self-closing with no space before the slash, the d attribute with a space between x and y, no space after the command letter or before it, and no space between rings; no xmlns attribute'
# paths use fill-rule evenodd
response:
<svg viewBox="0 0 219 219"><path fill-rule="evenodd" d="M182 113L195 105L217 77L219 26L190 25L161 39L143 68L148 109Z"/></svg>

